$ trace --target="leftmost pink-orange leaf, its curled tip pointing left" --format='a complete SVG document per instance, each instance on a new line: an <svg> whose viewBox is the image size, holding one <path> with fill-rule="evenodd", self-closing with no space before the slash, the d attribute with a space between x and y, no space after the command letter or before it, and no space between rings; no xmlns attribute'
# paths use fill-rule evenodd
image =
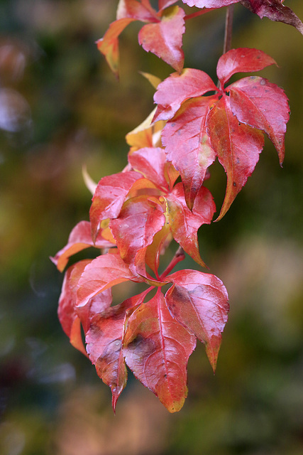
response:
<svg viewBox="0 0 303 455"><path fill-rule="evenodd" d="M111 248L113 246L113 243L101 236L101 232L99 232L96 243L94 243L92 241L91 224L89 221L80 221L75 225L75 228L72 229L72 232L70 232L67 245L57 252L55 257L51 257L50 259L57 266L57 269L62 272L65 269L68 259L77 252L88 247Z"/></svg>

